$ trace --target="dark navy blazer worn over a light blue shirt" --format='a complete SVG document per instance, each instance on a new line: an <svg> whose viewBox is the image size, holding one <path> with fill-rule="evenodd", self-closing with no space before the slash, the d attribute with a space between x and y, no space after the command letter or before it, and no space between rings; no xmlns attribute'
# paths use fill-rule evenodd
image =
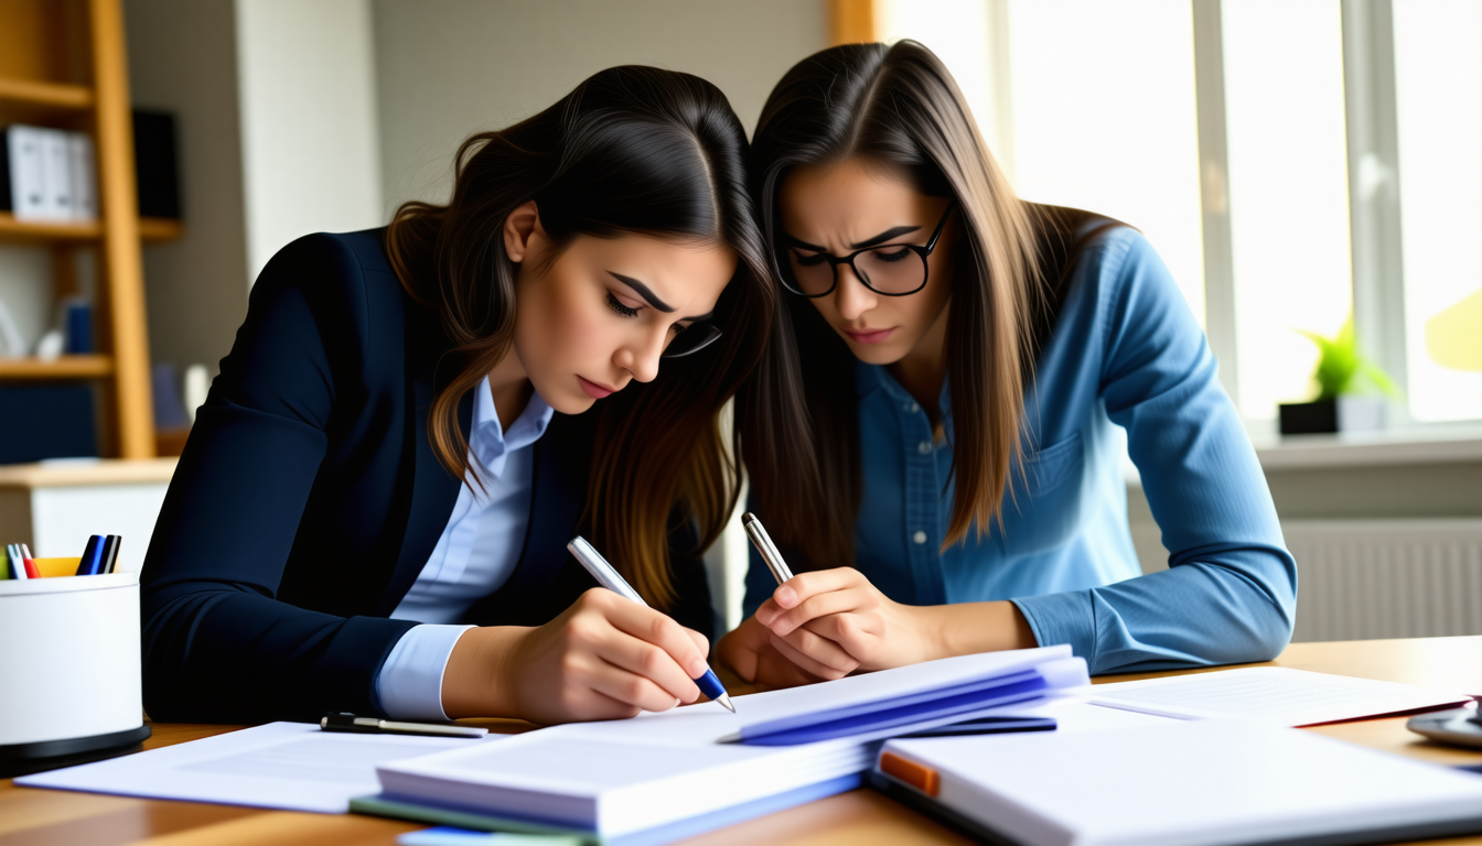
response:
<svg viewBox="0 0 1482 846"><path fill-rule="evenodd" d="M387 615L461 484L427 439L456 357L397 280L384 234L299 239L252 289L144 562L144 705L156 720L384 714L376 674L415 625ZM458 409L465 436L471 397ZM596 416L557 413L536 442L519 564L464 622L539 625L596 585L565 548L581 530ZM670 613L713 636L694 529L680 526Z"/></svg>

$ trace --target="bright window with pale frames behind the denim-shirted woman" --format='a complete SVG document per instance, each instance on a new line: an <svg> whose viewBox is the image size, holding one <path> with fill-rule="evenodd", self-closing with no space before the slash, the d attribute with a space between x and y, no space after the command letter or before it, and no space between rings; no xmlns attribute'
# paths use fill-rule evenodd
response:
<svg viewBox="0 0 1482 846"><path fill-rule="evenodd" d="M1143 230L1208 326L1246 419L1310 396L1317 350L1297 329L1331 335L1350 313L1406 388L1392 424L1482 418L1482 373L1435 362L1426 338L1436 314L1482 289L1466 250L1482 231L1482 4L1389 7L877 0L874 19L882 40L916 39L951 68L1023 197ZM1196 36L1200 13L1215 25ZM1392 62L1356 70L1363 50L1389 56L1390 39ZM1199 50L1217 56L1212 77L1196 79ZM1393 142L1375 154L1359 120L1381 136L1389 121L1398 154ZM1214 160L1200 126L1223 126ZM1375 218L1386 185L1393 213ZM1374 259L1371 242L1403 261Z"/></svg>

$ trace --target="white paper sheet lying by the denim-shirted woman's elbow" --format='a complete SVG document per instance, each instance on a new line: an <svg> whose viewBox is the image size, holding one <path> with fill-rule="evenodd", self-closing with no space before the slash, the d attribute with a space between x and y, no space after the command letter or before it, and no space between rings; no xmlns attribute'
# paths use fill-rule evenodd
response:
<svg viewBox="0 0 1482 846"><path fill-rule="evenodd" d="M1313 726L1458 705L1472 698L1396 682L1310 673L1289 667L1248 667L1116 682L1091 689L1091 701L1112 708L1186 720L1235 719L1275 726Z"/></svg>

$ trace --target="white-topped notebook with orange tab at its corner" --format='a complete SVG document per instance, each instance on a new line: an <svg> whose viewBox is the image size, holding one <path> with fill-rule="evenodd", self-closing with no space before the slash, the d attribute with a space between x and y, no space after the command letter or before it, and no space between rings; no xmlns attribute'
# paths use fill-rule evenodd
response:
<svg viewBox="0 0 1482 846"><path fill-rule="evenodd" d="M1020 846L1389 843L1482 831L1482 778L1236 720L888 741L871 785Z"/></svg>

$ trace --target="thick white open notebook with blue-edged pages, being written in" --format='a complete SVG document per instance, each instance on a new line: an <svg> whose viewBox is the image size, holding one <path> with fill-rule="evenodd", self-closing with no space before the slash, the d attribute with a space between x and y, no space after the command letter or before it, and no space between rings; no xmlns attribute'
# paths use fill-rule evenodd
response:
<svg viewBox="0 0 1482 846"><path fill-rule="evenodd" d="M1014 687L1030 676L1037 682ZM708 702L396 762L378 767L378 799L661 843L858 787L882 738L1042 704L1086 682L1067 646L966 655L735 696L735 714ZM965 704L963 690L990 695ZM840 720L860 730L839 735ZM750 744L748 732L820 739Z"/></svg>

